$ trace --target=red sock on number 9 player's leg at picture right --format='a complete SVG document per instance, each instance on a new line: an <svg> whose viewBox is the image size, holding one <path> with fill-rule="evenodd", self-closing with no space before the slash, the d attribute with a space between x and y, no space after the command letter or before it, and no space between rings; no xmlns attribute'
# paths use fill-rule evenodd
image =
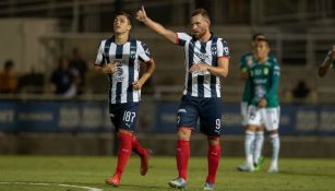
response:
<svg viewBox="0 0 335 191"><path fill-rule="evenodd" d="M208 183L215 183L215 177L217 167L219 164L220 158L220 146L219 144L210 146L208 153L207 153L207 165L208 165L208 176L206 179L206 182Z"/></svg>

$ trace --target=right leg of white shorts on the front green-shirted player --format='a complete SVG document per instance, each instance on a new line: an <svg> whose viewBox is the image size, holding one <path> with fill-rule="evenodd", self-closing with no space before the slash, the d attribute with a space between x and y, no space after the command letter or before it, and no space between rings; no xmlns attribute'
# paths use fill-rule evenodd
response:
<svg viewBox="0 0 335 191"><path fill-rule="evenodd" d="M279 128L278 112L278 108L266 108L262 111L262 120L267 131L277 130Z"/></svg>

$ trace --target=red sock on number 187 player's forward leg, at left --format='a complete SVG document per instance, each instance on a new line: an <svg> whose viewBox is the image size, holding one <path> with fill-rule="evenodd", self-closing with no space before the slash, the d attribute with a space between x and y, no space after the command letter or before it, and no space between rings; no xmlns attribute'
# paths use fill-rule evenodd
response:
<svg viewBox="0 0 335 191"><path fill-rule="evenodd" d="M127 133L119 133L119 151L118 151L118 166L116 175L121 179L124 167L131 155L132 135Z"/></svg>

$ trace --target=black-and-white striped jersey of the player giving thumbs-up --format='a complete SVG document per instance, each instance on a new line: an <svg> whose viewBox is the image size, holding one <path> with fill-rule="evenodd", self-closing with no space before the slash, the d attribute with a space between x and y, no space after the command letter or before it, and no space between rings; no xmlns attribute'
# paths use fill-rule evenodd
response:
<svg viewBox="0 0 335 191"><path fill-rule="evenodd" d="M207 63L216 67L219 57L229 57L228 47L224 46L223 43L225 40L212 37L207 43L201 43L200 40L192 40L192 37L184 33L177 33L177 38L178 44L184 48L186 53L186 88L183 94L194 97L220 97L220 79L218 76L212 75L208 71L190 73L189 68L190 61L191 64ZM212 46L213 43L216 45Z"/></svg>

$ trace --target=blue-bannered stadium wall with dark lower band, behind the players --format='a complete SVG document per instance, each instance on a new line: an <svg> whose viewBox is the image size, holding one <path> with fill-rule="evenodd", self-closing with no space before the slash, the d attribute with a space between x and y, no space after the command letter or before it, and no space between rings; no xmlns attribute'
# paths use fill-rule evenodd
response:
<svg viewBox="0 0 335 191"><path fill-rule="evenodd" d="M175 155L175 102L145 102L137 130L155 155ZM239 104L225 104L225 156L243 156ZM332 105L282 105L283 157L335 157L335 109ZM106 100L1 100L0 154L111 155L112 128ZM192 155L204 156L205 138L192 136ZM270 156L270 142L264 154Z"/></svg>

